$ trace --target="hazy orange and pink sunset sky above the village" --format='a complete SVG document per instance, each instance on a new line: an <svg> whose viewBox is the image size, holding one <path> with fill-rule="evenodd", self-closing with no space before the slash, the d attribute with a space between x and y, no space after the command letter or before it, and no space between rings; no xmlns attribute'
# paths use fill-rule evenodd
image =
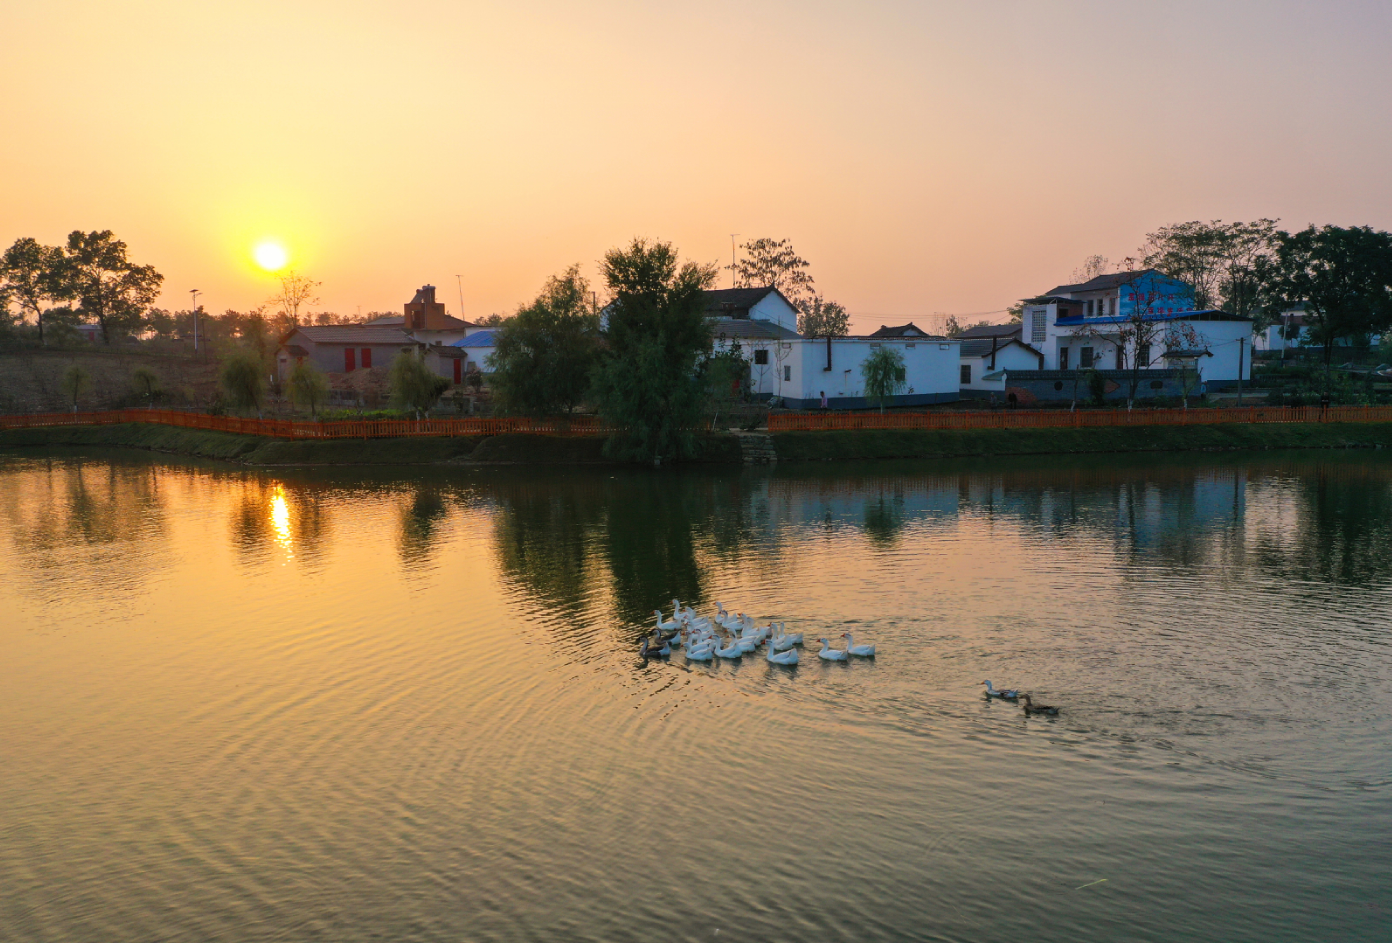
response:
<svg viewBox="0 0 1392 943"><path fill-rule="evenodd" d="M738 234L874 330L1183 220L1392 228L1386 0L0 0L0 242L113 230L168 308L266 302L263 240L316 309L476 318Z"/></svg>

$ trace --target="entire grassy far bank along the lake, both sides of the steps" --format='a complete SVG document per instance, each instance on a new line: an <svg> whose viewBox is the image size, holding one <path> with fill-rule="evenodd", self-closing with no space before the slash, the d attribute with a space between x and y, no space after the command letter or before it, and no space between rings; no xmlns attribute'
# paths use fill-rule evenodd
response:
<svg viewBox="0 0 1392 943"><path fill-rule="evenodd" d="M1087 429L874 429L778 432L780 462L869 461L1147 451L1392 447L1392 423L1231 423ZM739 464L738 436L702 439L699 461ZM597 465L600 436L422 436L402 439L267 439L153 423L0 430L0 450L52 446L146 449L244 465Z"/></svg>

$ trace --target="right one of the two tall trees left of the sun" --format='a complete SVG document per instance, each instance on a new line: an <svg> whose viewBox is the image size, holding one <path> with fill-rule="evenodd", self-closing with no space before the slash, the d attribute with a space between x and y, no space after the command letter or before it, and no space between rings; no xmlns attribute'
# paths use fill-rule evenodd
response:
<svg viewBox="0 0 1392 943"><path fill-rule="evenodd" d="M78 313L102 326L107 345L113 334L139 330L164 283L155 266L134 265L111 230L70 233L61 273L64 291L78 299Z"/></svg>

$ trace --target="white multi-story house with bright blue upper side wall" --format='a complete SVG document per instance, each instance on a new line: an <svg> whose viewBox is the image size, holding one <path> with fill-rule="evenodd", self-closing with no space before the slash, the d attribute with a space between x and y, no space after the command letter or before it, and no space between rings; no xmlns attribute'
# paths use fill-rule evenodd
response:
<svg viewBox="0 0 1392 943"><path fill-rule="evenodd" d="M1059 286L1030 299L1022 320L1045 371L1193 365L1210 390L1251 376L1251 319L1196 311L1193 288L1154 269Z"/></svg>

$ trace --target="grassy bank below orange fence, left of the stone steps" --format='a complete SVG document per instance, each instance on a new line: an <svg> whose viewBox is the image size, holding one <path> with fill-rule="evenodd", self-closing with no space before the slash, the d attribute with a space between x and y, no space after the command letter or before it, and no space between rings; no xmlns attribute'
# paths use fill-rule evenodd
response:
<svg viewBox="0 0 1392 943"><path fill-rule="evenodd" d="M610 464L600 436L457 436L290 440L153 423L0 430L0 450L88 446L149 449L245 465ZM702 442L702 461L739 462L734 436Z"/></svg>

